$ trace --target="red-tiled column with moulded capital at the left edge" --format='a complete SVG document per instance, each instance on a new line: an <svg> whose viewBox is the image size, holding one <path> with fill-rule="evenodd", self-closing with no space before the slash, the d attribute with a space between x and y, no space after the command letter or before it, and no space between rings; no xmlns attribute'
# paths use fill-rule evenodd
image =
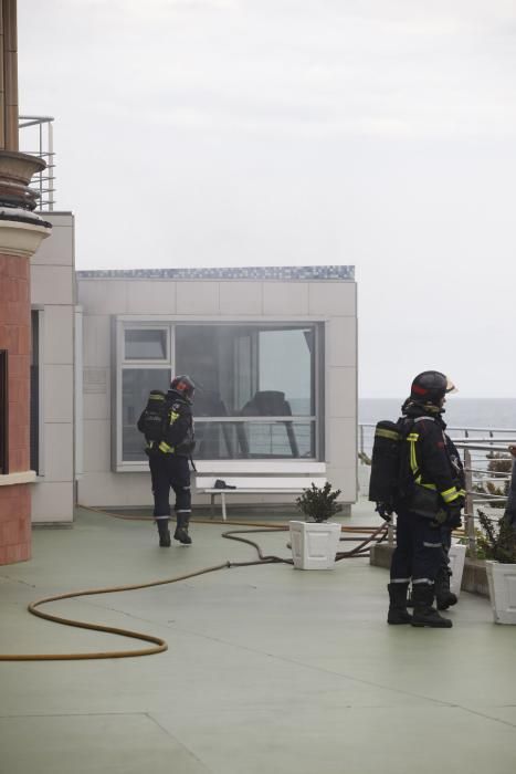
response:
<svg viewBox="0 0 516 774"><path fill-rule="evenodd" d="M31 556L30 259L51 224L33 213L29 187L45 163L0 149L0 349L8 354L7 471L0 473L0 565Z"/></svg>

